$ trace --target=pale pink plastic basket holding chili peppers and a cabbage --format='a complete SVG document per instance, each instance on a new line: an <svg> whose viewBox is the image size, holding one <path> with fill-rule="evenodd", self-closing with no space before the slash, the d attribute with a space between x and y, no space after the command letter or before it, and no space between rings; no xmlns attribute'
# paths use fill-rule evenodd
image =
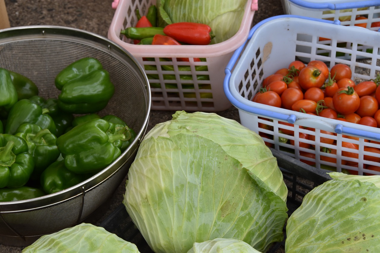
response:
<svg viewBox="0 0 380 253"><path fill-rule="evenodd" d="M215 112L230 108L231 103L222 88L224 68L234 50L248 37L257 1L247 1L239 30L222 43L207 46L135 45L120 36L121 30L136 25L136 9L144 15L155 3L155 0L120 0L108 31L108 38L124 47L145 68L152 92L151 108ZM177 62L177 57L189 58L190 62ZM172 60L162 61L162 58ZM192 58L204 61L194 62ZM150 78L152 76L155 79ZM184 77L187 80L183 80Z"/></svg>

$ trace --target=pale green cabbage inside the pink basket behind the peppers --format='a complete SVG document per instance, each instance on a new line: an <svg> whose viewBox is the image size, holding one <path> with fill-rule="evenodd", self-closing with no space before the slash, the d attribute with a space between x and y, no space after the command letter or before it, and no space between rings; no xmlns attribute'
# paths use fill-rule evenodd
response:
<svg viewBox="0 0 380 253"><path fill-rule="evenodd" d="M211 27L215 38L211 44L228 40L239 30L246 0L158 0L159 26L177 22L196 22ZM199 8L199 6L202 6Z"/></svg>

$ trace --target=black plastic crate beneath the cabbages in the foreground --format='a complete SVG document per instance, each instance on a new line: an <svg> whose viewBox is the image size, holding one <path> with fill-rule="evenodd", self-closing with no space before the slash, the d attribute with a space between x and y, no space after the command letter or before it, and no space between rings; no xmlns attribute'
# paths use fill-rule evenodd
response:
<svg viewBox="0 0 380 253"><path fill-rule="evenodd" d="M310 190L330 180L331 177L326 172L302 163L277 150L271 149L271 151L274 157L277 158L277 163L288 187L287 207L289 209L288 215L290 216L301 205L302 199ZM120 238L135 244L140 252L153 253L140 231L133 224L123 204L120 204L105 218L100 226ZM283 229L284 240L272 245L267 253L285 252L285 226Z"/></svg>

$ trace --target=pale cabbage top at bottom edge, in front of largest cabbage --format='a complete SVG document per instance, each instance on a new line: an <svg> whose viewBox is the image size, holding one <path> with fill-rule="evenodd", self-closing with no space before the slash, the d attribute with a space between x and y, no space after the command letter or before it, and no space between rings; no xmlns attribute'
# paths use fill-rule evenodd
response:
<svg viewBox="0 0 380 253"><path fill-rule="evenodd" d="M260 251L241 240L216 238L206 242L195 242L187 253L260 253Z"/></svg>

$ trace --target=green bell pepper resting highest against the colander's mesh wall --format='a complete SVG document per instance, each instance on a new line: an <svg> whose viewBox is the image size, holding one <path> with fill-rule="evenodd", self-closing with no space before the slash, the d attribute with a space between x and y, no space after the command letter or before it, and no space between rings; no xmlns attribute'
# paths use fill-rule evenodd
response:
<svg viewBox="0 0 380 253"><path fill-rule="evenodd" d="M71 63L55 77L61 90L58 105L63 111L87 114L104 109L114 94L109 73L94 58L83 58Z"/></svg>

